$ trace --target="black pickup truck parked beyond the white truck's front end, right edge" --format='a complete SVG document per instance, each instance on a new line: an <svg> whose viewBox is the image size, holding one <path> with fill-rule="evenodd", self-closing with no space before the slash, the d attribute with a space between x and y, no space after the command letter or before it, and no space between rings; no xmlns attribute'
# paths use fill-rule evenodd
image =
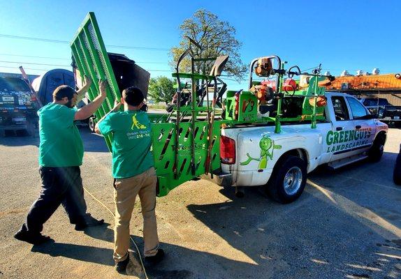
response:
<svg viewBox="0 0 401 279"><path fill-rule="evenodd" d="M363 103L371 114L377 114L377 118L383 122L401 121L401 106L391 105L386 98L361 98L360 103Z"/></svg>

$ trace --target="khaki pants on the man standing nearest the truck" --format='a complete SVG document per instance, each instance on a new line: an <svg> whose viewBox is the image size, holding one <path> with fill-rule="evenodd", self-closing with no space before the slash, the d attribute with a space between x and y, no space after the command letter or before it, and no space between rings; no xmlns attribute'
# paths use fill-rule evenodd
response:
<svg viewBox="0 0 401 279"><path fill-rule="evenodd" d="M159 249L157 236L156 215L156 173L151 167L146 172L128 179L115 180L115 248L113 258L121 262L128 256L129 222L139 195L143 215L143 240L145 242L145 257L156 255Z"/></svg>

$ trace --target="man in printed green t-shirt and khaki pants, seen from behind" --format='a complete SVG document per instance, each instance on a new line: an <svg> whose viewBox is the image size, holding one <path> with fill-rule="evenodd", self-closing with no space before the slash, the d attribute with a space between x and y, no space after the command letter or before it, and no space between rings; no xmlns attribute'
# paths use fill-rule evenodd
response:
<svg viewBox="0 0 401 279"><path fill-rule="evenodd" d="M112 134L112 175L115 178L115 249L113 258L119 273L129 262L129 222L136 196L139 195L143 215L145 260L159 262L164 255L159 248L156 215L156 172L154 171L152 130L140 89L122 91L121 103L96 123L98 134ZM124 104L124 112L118 112Z"/></svg>

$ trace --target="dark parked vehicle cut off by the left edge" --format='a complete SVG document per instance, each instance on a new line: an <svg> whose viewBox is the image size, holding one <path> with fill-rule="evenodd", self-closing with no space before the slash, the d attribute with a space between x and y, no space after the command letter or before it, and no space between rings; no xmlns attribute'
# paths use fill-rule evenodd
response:
<svg viewBox="0 0 401 279"><path fill-rule="evenodd" d="M0 77L0 130L27 130L36 121L38 102L24 80Z"/></svg>

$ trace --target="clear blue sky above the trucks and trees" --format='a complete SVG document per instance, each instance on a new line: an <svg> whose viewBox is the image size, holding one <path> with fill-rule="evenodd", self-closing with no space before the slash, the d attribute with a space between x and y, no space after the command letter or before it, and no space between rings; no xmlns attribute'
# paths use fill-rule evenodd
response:
<svg viewBox="0 0 401 279"><path fill-rule="evenodd" d="M334 75L342 70L371 72L372 68L379 68L381 73L400 73L401 1L331 2L0 0L0 72L19 73L20 65L28 74L42 74L52 68L71 69L67 43L4 35L70 41L85 15L93 11L105 45L162 49L106 46L108 52L126 54L150 70L152 77L170 77L166 49L179 43L183 20L205 8L235 27L245 63L258 56L277 54L289 61L289 66L307 69L322 63L323 69ZM246 84L231 80L227 83L229 89L245 89Z"/></svg>

